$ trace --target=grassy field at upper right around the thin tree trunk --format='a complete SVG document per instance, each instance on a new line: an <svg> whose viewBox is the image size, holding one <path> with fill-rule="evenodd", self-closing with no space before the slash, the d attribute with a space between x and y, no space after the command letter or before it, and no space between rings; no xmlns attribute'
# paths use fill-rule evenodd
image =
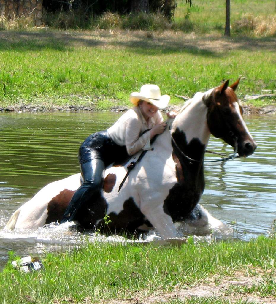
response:
<svg viewBox="0 0 276 304"><path fill-rule="evenodd" d="M276 36L275 1L234 0L230 11L233 36ZM186 32L223 34L225 2L195 0L190 8L185 1L178 1L174 22L176 28Z"/></svg>

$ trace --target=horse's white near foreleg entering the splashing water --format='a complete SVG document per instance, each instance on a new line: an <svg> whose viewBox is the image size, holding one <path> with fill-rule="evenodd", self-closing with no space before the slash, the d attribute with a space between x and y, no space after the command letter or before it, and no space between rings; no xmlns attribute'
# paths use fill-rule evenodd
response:
<svg viewBox="0 0 276 304"><path fill-rule="evenodd" d="M153 206L152 206L153 205ZM177 236L176 228L172 221L171 216L167 215L162 205L154 207L154 203L151 200L150 204L143 205L141 203L141 212L147 217L152 226L161 234L164 239Z"/></svg>

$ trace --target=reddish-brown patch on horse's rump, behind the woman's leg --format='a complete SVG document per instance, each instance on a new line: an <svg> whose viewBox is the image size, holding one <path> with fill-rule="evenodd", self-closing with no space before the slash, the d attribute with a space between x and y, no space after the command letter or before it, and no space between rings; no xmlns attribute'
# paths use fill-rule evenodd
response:
<svg viewBox="0 0 276 304"><path fill-rule="evenodd" d="M74 193L75 191L65 189L50 200L47 208L48 217L45 224L60 221L62 219Z"/></svg>

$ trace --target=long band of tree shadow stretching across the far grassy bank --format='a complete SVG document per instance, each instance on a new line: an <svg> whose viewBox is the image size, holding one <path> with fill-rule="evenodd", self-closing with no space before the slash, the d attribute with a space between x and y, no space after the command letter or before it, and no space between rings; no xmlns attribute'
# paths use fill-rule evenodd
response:
<svg viewBox="0 0 276 304"><path fill-rule="evenodd" d="M71 47L110 47L125 48L136 54L160 55L188 53L205 57L224 57L232 50L264 50L276 49L276 38L254 38L247 36L202 36L191 38L185 34L177 35L153 33L119 32L39 32L2 31L0 32L0 50L30 51L52 49L70 51Z"/></svg>

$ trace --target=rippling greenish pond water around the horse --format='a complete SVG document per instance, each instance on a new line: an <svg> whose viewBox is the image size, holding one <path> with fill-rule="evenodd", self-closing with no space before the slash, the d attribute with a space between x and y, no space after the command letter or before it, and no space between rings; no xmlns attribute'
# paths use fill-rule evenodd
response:
<svg viewBox="0 0 276 304"><path fill-rule="evenodd" d="M0 113L0 268L10 250L25 256L64 250L82 239L80 233L64 225L16 232L3 228L11 214L44 185L79 172L80 143L89 134L107 129L120 115ZM259 234L267 235L276 217L276 116L246 116L245 120L258 143L257 150L245 159L206 163L201 204L232 228L232 237L249 240ZM233 148L214 137L208 149L233 152ZM206 159L213 156L207 155Z"/></svg>

